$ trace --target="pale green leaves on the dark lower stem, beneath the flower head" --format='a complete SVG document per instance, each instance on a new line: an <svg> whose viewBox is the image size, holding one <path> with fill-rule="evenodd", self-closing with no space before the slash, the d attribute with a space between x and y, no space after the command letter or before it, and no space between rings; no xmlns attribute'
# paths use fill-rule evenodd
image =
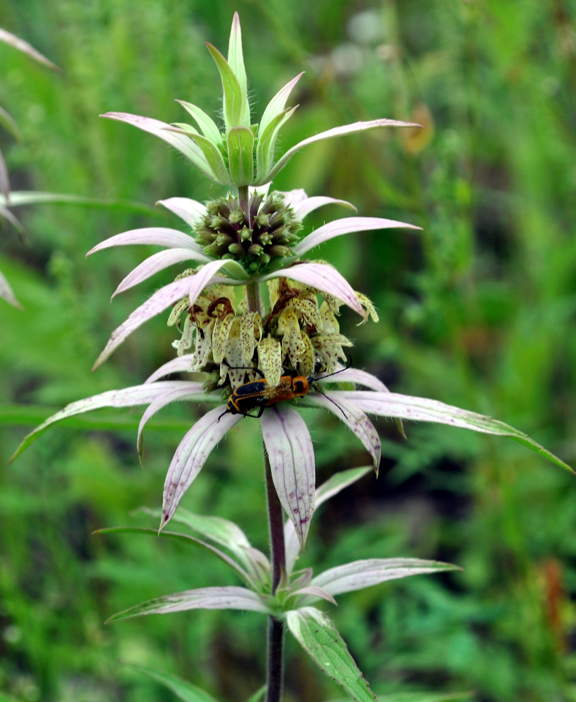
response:
<svg viewBox="0 0 576 702"><path fill-rule="evenodd" d="M318 504L336 495L370 470L371 467L353 468L332 476L315 491ZM157 510L144 511L152 517L159 515ZM241 609L275 616L287 622L288 628L310 658L356 702L374 702L374 695L332 620L327 614L309 605L320 599L336 604L334 595L341 592L358 590L395 578L454 569L454 566L449 564L410 558L356 561L329 569L316 578L312 577L312 569L295 573L292 578L288 575L286 585L279 588L277 596L274 597L266 594L270 590L270 563L266 556L251 547L240 527L221 517L195 515L182 508L176 512L174 519L202 534L212 543L174 532L162 532L162 536L208 548L233 567L247 588L227 586L177 592L126 609L110 617L108 621L189 609ZM294 534L292 522L289 524L292 530L287 527L284 533L287 535L287 571L291 572L299 550L299 542ZM155 534L152 529L131 527L103 529L100 533L122 531ZM233 557L223 553L214 544L228 550ZM185 702L208 702L205 697L202 698L202 695L205 695L203 691L199 691L195 686L163 673L155 674L149 671L149 674L152 677L156 675L156 680L170 687ZM262 691L258 691L255 697L261 694Z"/></svg>

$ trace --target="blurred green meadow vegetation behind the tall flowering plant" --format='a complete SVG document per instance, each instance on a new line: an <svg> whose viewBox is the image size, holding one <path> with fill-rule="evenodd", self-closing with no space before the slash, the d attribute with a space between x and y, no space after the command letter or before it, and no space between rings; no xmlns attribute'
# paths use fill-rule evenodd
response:
<svg viewBox="0 0 576 702"><path fill-rule="evenodd" d="M204 42L225 50L235 10L255 121L306 69L284 147L358 119L425 125L419 135L318 143L275 181L424 227L348 235L319 250L381 313L362 327L343 314L355 365L397 392L500 418L576 463L574 0L1 0L0 26L64 70L0 46L0 104L24 136L0 134L13 189L150 207L220 194L164 143L98 114L178 121L174 98L216 112L219 79ZM345 214L320 211L308 224ZM25 243L0 232L0 269L25 305L0 300L0 691L23 702L173 699L124 665L140 663L242 702L263 681L260 616L199 611L103 626L155 595L236 584L178 544L91 536L145 524L131 512L160 504L194 410L162 413L143 470L138 413L120 412L84 430L55 428L8 465L41 406L140 383L172 357L174 330L158 318L90 372L112 329L177 271L110 305L119 280L155 249L84 253L129 228L181 223L152 209L37 206L18 216ZM29 425L18 425L15 404ZM319 482L367 463L336 420L306 418ZM504 439L408 423L403 442L393 423L379 430L379 480L368 476L318 510L301 563L414 555L464 571L339 598L331 614L373 689L576 700L576 479ZM266 548L260 441L257 424L243 422L183 504L234 519ZM288 702L340 696L290 639L286 682Z"/></svg>

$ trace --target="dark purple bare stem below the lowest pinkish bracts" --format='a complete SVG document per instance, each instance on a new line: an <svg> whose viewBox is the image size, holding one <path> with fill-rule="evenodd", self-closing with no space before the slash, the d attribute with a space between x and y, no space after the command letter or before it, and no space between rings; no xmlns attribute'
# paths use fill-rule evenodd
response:
<svg viewBox="0 0 576 702"><path fill-rule="evenodd" d="M276 591L286 567L284 550L284 515L272 480L270 461L266 463L266 496L268 498L268 529L270 530L270 561L272 562L272 592ZM266 651L266 702L282 700L284 682L284 622L268 618L268 649Z"/></svg>

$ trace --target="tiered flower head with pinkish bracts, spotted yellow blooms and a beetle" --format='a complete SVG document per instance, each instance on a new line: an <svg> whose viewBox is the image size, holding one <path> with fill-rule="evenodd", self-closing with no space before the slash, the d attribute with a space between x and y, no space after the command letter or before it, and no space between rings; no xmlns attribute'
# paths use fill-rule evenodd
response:
<svg viewBox="0 0 576 702"><path fill-rule="evenodd" d="M509 436L565 465L522 432L497 420L435 400L388 392L378 378L341 365L346 362L345 349L352 345L340 333L341 308L351 308L361 322L369 317L377 322L378 315L370 300L353 290L332 265L305 257L319 244L343 234L419 227L384 218L347 216L301 237L302 221L315 209L327 204L355 207L331 197L308 197L303 190L270 191L270 181L309 143L367 129L414 125L390 119L355 122L310 137L275 161L277 135L296 109L287 108L286 102L301 74L270 100L260 124L251 124L237 15L228 60L208 46L222 78L223 132L188 102L182 105L199 131L188 124L168 125L124 113L105 117L159 136L209 178L236 190L206 204L184 197L159 201L188 225L188 232L166 227L131 230L89 251L92 254L129 244L162 247L129 273L112 297L175 263L195 262L130 314L112 333L94 367L141 324L169 307L167 322L180 332L174 340L176 358L143 385L70 404L34 430L17 453L49 425L67 416L100 406L147 404L138 430L140 451L145 423L163 406L183 399L213 402L214 409L192 426L171 461L164 484L162 529L211 449L244 416L256 411L278 497L302 546L314 510L315 466L310 433L296 409L299 404L336 414L360 439L376 470L380 439L368 415L432 421ZM200 376L204 380L162 380L176 372L204 373ZM342 383L347 388L365 389L334 389Z"/></svg>

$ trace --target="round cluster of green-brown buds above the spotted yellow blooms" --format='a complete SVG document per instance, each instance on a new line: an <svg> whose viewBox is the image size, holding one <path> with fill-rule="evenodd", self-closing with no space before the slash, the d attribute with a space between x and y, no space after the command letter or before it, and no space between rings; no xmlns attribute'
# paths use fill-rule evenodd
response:
<svg viewBox="0 0 576 702"><path fill-rule="evenodd" d="M238 197L230 194L207 204L195 239L207 256L231 258L247 272L261 273L275 269L280 259L295 255L301 228L280 195L271 194L265 201L262 194L253 192L246 213Z"/></svg>

